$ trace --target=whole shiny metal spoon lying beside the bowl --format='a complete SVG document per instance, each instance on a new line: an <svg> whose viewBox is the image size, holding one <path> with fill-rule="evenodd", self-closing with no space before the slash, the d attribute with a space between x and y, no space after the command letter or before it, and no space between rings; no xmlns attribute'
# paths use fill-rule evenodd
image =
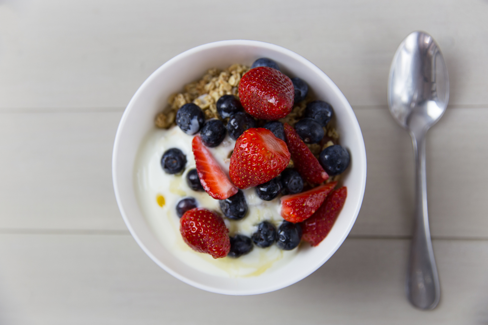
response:
<svg viewBox="0 0 488 325"><path fill-rule="evenodd" d="M398 47L388 79L388 106L410 133L415 155L415 219L407 274L407 296L422 309L437 306L439 277L427 216L427 130L444 114L449 100L446 63L434 39L413 32Z"/></svg>

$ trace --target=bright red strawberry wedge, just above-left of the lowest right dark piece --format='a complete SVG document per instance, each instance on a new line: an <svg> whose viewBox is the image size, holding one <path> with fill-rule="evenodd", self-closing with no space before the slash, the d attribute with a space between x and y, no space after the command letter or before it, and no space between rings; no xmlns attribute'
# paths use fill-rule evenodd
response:
<svg viewBox="0 0 488 325"><path fill-rule="evenodd" d="M281 216L293 223L304 221L319 209L336 184L337 182L330 182L306 192L282 196Z"/></svg>

